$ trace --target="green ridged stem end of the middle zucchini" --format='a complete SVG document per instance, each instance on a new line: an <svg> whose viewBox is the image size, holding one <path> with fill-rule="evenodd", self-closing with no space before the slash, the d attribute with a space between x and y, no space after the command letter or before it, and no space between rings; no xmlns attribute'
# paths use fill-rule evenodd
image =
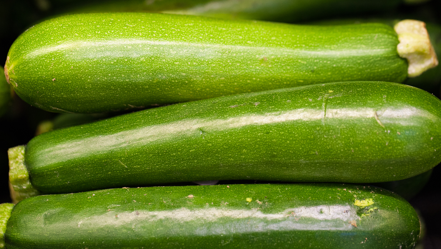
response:
<svg viewBox="0 0 441 249"><path fill-rule="evenodd" d="M7 150L9 158L9 190L14 204L27 197L40 194L30 183L29 172L24 162L25 149L25 145L19 145Z"/></svg>

